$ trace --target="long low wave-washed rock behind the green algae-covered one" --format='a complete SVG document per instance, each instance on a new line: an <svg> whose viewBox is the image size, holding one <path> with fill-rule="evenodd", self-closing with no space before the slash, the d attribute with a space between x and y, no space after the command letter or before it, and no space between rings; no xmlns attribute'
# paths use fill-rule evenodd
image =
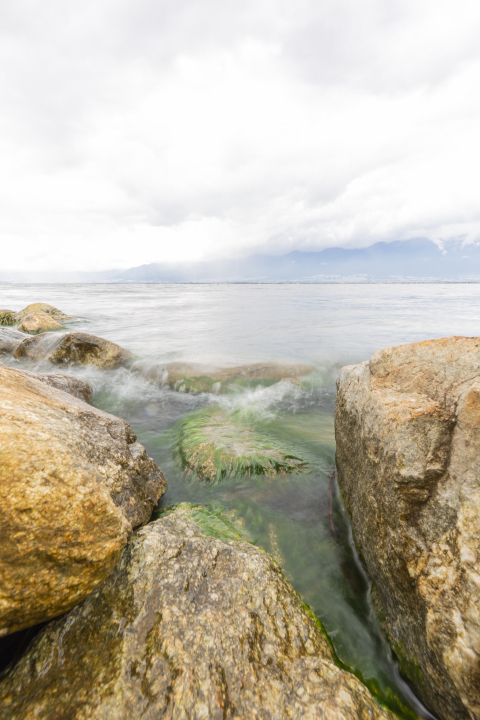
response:
<svg viewBox="0 0 480 720"><path fill-rule="evenodd" d="M256 363L233 368L212 369L195 363L173 362L145 368L149 380L182 392L226 392L235 385L263 381L272 384L285 379L305 377L314 370L300 363Z"/></svg>

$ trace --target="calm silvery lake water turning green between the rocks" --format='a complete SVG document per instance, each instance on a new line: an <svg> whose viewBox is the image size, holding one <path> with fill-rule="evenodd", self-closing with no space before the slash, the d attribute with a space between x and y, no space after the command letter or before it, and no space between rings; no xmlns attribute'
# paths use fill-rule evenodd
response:
<svg viewBox="0 0 480 720"><path fill-rule="evenodd" d="M400 677L373 614L369 583L351 542L334 477L335 379L376 350L447 335L480 334L480 285L1 285L0 307L42 301L78 317L70 330L131 350L129 369L65 367L88 380L92 403L126 419L165 472L161 505L223 508L245 538L281 565L322 620L340 660L399 717L433 717ZM193 395L149 381L172 361L229 367L260 361L312 366L308 382L250 383ZM15 366L19 361L4 360ZM26 366L52 371L46 365ZM58 368L56 369L58 371ZM175 452L179 424L220 406L309 458L306 474L202 484ZM243 415L242 415L243 413ZM412 714L413 713L413 714Z"/></svg>

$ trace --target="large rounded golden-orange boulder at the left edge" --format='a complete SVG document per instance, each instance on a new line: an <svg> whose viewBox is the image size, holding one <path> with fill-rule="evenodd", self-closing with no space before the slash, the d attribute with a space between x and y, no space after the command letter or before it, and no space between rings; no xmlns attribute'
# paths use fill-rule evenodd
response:
<svg viewBox="0 0 480 720"><path fill-rule="evenodd" d="M0 635L103 582L166 489L126 422L51 387L79 381L32 375L0 367Z"/></svg>

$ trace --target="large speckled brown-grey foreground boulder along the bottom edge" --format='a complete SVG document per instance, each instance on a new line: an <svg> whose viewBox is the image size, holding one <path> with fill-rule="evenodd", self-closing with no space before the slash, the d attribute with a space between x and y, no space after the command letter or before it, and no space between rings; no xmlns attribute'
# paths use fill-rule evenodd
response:
<svg viewBox="0 0 480 720"><path fill-rule="evenodd" d="M317 624L318 623L318 624ZM0 683L0 718L393 720L334 664L269 556L177 510L46 627Z"/></svg>

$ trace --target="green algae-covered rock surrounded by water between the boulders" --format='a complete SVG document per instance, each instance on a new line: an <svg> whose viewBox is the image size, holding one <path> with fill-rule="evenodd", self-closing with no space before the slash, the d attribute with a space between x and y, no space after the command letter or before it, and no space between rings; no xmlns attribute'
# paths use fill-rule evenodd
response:
<svg viewBox="0 0 480 720"><path fill-rule="evenodd" d="M185 469L212 482L236 475L300 472L307 463L220 408L206 408L180 423L177 454Z"/></svg>

